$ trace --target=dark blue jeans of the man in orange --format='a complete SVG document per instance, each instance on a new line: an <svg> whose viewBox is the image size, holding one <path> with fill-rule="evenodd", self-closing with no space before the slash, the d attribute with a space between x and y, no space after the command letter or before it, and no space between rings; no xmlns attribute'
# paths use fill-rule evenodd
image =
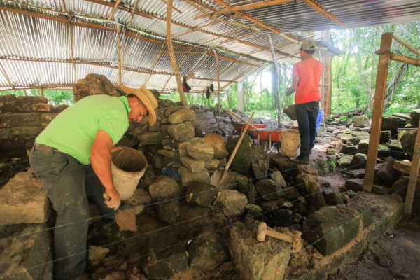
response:
<svg viewBox="0 0 420 280"><path fill-rule="evenodd" d="M315 144L319 102L296 104L295 111L300 133L300 157L309 158L309 151Z"/></svg>

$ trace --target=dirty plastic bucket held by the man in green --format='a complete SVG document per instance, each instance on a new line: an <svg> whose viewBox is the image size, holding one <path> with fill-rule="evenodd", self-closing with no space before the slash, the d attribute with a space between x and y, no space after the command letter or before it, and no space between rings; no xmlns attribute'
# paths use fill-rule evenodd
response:
<svg viewBox="0 0 420 280"><path fill-rule="evenodd" d="M113 184L121 200L127 200L134 194L141 176L146 171L147 160L141 151L124 147L112 154L111 172Z"/></svg>

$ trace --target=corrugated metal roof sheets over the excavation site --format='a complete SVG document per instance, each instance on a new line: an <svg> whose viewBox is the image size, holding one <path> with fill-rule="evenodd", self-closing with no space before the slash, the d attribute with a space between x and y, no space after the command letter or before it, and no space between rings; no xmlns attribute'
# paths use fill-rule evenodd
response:
<svg viewBox="0 0 420 280"><path fill-rule="evenodd" d="M172 37L181 75L189 77L196 92L212 82L216 86L211 50L216 48L221 87L231 85L272 61L267 34L280 62L298 59L303 37L296 32L339 28L305 1L211 15L226 8L214 1L174 0ZM224 3L242 7L262 2ZM165 41L167 5L161 0L141 0L137 7L134 3L122 1L106 22L115 1L0 0L0 90L10 88L8 80L15 88L69 86L87 73L104 74L117 84L118 36L123 42L123 84L177 90ZM418 0L314 3L346 27L420 20ZM117 34L118 25L125 34ZM328 43L320 46L323 56L339 54Z"/></svg>

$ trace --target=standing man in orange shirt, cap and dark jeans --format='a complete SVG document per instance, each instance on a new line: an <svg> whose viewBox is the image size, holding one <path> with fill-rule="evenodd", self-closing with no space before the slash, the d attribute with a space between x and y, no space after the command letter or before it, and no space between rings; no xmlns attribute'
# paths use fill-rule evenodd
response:
<svg viewBox="0 0 420 280"><path fill-rule="evenodd" d="M316 44L304 40L300 46L301 62L293 65L293 85L286 90L286 95L295 94L295 111L300 132L300 155L295 162L309 164L309 154L314 148L316 118L319 111L319 81L323 73L323 64L312 58Z"/></svg>

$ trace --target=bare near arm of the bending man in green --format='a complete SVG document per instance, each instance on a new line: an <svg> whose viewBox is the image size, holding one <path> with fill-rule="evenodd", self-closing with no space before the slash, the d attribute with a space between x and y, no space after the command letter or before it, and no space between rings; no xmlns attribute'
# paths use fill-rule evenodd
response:
<svg viewBox="0 0 420 280"><path fill-rule="evenodd" d="M92 150L90 151L90 163L94 173L97 174L99 180L105 188L106 193L111 198L105 202L106 206L114 210L120 207L120 194L113 186L111 173L111 150L113 149L113 141L111 136L104 130L99 130L94 139Z"/></svg>

